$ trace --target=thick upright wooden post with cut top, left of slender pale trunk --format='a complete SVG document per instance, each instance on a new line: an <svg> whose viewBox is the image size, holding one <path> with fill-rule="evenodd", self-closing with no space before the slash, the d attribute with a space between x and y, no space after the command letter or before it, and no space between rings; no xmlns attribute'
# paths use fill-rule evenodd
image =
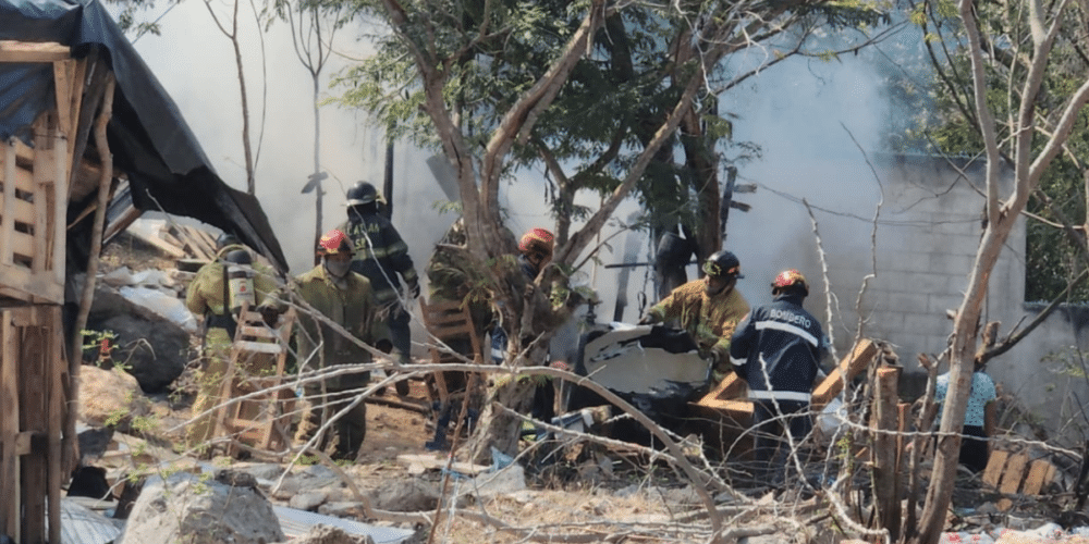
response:
<svg viewBox="0 0 1089 544"><path fill-rule="evenodd" d="M892 542L900 540L900 437L893 433L900 428L896 393L900 382L898 367L878 369L873 398L873 505L878 511L879 527L889 530Z"/></svg>

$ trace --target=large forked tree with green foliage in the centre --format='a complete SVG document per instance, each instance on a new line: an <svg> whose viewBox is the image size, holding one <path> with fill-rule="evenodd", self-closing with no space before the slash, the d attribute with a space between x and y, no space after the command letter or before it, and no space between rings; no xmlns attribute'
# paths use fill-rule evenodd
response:
<svg viewBox="0 0 1089 544"><path fill-rule="evenodd" d="M803 51L808 30L821 22L880 15L868 5L805 0L382 0L358 8L390 34L376 36L371 62L339 78L351 87L343 101L376 113L380 123L400 121L397 131L440 147L457 172L467 251L489 274L514 366L543 360L552 331L541 319L548 312L539 310L550 306L553 285L565 288L565 274L592 252L594 238L652 175L652 165L672 162L669 146L680 127L687 131L690 162L702 172L697 185L717 196L713 141L726 134L717 128L724 124L712 108L718 94ZM726 55L757 44L771 51L766 62L741 73L722 70ZM585 210L583 226L561 237L553 265L527 286L510 257L513 236L503 226L499 193L514 169L538 160L560 186L561 208L583 188L601 193L602 202ZM564 173L573 164L575 173ZM708 208L718 225L718 208ZM505 400L517 405L516 397ZM501 449L516 446L516 419L482 421Z"/></svg>

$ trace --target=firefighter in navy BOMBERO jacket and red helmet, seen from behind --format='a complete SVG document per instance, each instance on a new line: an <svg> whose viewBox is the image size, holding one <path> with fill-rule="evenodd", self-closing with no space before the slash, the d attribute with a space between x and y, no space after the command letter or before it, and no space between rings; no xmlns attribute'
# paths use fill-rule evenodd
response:
<svg viewBox="0 0 1089 544"><path fill-rule="evenodd" d="M788 454L784 437L797 444L812 429L809 400L828 344L820 322L802 307L809 284L800 272L780 272L771 289L774 300L737 325L730 357L752 400L757 475L779 485Z"/></svg>

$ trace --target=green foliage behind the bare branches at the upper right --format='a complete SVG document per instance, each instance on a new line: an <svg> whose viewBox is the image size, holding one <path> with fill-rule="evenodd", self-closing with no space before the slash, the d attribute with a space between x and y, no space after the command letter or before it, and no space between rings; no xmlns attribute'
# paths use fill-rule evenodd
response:
<svg viewBox="0 0 1089 544"><path fill-rule="evenodd" d="M1020 4L980 4L979 26L987 40L984 66L987 102L998 122L998 141L1006 158L1016 156L1012 146L1013 122L1018 116L1021 81L1030 61L1027 10ZM1070 7L1060 15L1064 29L1057 34L1048 59L1041 91L1035 97L1033 107L1043 131L1033 141L1033 156L1045 145L1072 92L1080 86L1089 71L1089 55L1084 47L1082 14ZM964 28L956 5L949 0L920 3L910 13L910 21L926 32L926 45L937 60L931 82L931 112L917 115L909 137L926 139L922 148L954 157L976 157L983 151L975 113L970 66L965 50ZM1015 45L1017 45L1015 47ZM923 111L923 110L920 110ZM1086 221L1086 174L1089 173L1089 116L1082 111L1075 123L1074 133L1061 153L1043 173L1039 190L1047 199L1033 195L1027 211L1025 248L1027 300L1051 300L1057 297L1086 269L1086 259L1061 228L1062 218L1075 224ZM930 148L932 146L932 148ZM1047 203L1052 201L1052 206ZM1035 218L1035 219L1033 219ZM1077 287L1069 301L1089 300L1089 286Z"/></svg>

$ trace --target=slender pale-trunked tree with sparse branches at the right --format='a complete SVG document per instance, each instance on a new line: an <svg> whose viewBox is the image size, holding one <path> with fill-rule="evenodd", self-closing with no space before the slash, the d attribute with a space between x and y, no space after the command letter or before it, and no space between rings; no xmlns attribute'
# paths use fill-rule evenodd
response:
<svg viewBox="0 0 1089 544"><path fill-rule="evenodd" d="M938 35L931 35L928 42L938 44L931 51L938 77L951 90L949 97L955 104L950 115L959 116L978 132L976 141L987 161L987 207L976 261L953 324L951 383L941 418L934 477L927 491L920 527L908 534L910 542L919 544L931 544L940 537L956 475L958 431L974 362L995 349L979 350L976 345L990 273L1015 221L1040 189L1056 157L1070 153L1072 135L1084 120L1089 101L1089 76L1084 67L1069 70L1070 65L1064 63L1072 57L1063 51L1085 41L1084 7L1067 1L977 5L960 0L956 11L959 26L949 26L949 15L950 4L926 3L920 5L918 21L933 24L942 33L940 41L932 39ZM1069 41L1056 41L1061 36ZM1084 66L1085 55L1075 58ZM1047 83L1055 79L1049 79L1049 75L1063 73L1069 74L1065 92L1053 91ZM999 184L1003 169L1008 169L1014 182L1005 195Z"/></svg>

